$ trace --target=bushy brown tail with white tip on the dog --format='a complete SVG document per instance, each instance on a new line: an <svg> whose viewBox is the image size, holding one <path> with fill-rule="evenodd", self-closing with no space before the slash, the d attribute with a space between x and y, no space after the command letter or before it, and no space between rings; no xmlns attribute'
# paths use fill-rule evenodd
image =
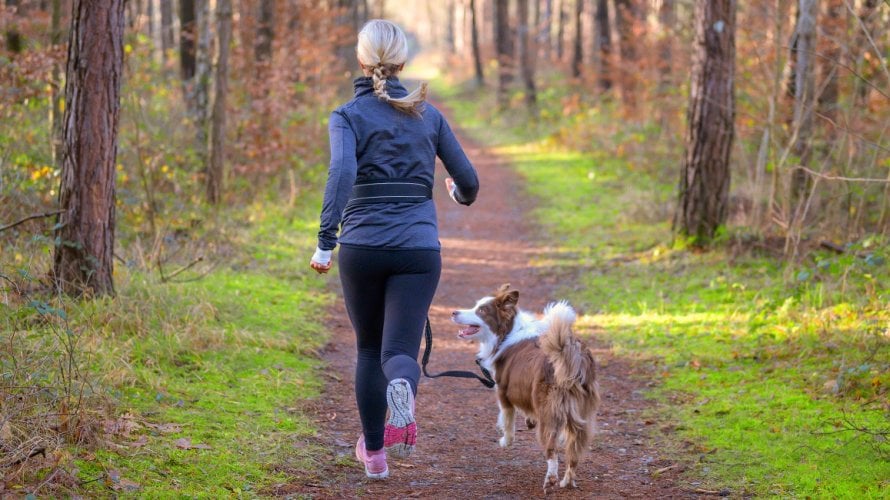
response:
<svg viewBox="0 0 890 500"><path fill-rule="evenodd" d="M549 326L541 336L541 349L553 365L557 389L553 404L561 407L554 408L555 413L566 416L564 425L569 434L592 429L599 388L593 356L572 334L575 310L561 301L547 306L544 316Z"/></svg>

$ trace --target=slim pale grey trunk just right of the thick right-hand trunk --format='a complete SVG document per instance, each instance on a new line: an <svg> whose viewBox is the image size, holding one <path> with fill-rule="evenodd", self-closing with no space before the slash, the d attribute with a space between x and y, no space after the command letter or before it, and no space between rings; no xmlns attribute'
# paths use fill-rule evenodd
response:
<svg viewBox="0 0 890 500"><path fill-rule="evenodd" d="M813 131L813 107L815 97L814 68L811 56L815 51L817 0L799 0L797 16L797 33L794 78L794 115L791 124L795 136L792 151L797 156L800 166L810 163L811 141ZM789 219L795 220L801 211L800 205L807 191L806 172L795 168L791 174L791 191L789 196Z"/></svg>

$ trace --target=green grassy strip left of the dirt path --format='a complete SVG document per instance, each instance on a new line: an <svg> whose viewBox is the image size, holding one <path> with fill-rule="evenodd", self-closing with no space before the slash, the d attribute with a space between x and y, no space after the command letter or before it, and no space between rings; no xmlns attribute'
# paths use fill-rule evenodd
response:
<svg viewBox="0 0 890 500"><path fill-rule="evenodd" d="M333 300L302 265L319 204L316 195L294 209L224 210L225 256L210 256L218 265L201 279L161 283L118 265L114 298L47 299L89 353L92 396L114 409L95 415L109 443L68 446L32 479L61 465L82 484L68 493L215 498L258 494L286 481L275 466L306 466L300 446L315 429L299 402L322 387L318 311ZM38 314L4 312L18 324Z"/></svg>

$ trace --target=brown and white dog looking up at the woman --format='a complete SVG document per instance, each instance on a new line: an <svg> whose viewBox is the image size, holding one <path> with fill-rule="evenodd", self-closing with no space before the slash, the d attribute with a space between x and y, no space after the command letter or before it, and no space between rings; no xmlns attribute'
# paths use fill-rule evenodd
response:
<svg viewBox="0 0 890 500"><path fill-rule="evenodd" d="M519 292L503 285L472 309L452 313L462 339L479 341L478 358L497 383L499 443L510 446L516 409L537 427L547 457L544 489L556 484L557 447L564 445L566 473L560 487L575 487L575 471L596 423L599 389L590 350L572 334L575 311L565 301L548 305L537 319L516 306Z"/></svg>

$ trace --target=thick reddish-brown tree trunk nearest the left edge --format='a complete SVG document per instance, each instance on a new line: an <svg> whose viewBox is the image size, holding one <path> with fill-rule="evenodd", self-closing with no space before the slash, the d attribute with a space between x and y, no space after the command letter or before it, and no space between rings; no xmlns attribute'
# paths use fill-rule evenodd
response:
<svg viewBox="0 0 890 500"><path fill-rule="evenodd" d="M53 278L71 295L114 294L114 182L124 0L74 0Z"/></svg>

